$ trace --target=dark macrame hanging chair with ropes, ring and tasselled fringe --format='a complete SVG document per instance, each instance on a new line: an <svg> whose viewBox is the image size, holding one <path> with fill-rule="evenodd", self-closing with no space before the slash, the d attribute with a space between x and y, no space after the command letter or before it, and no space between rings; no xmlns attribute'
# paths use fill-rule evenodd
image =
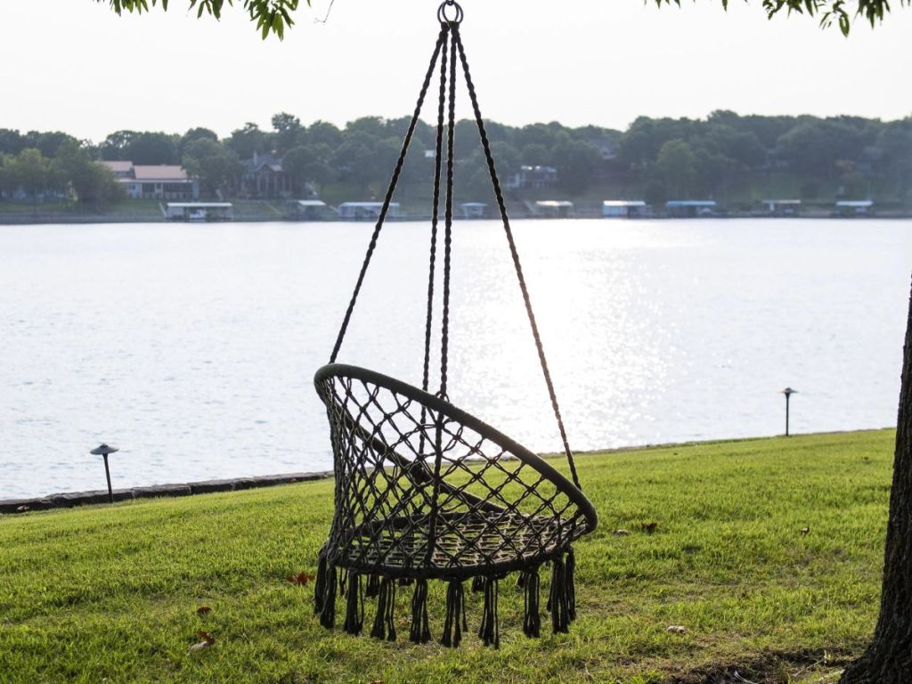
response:
<svg viewBox="0 0 912 684"><path fill-rule="evenodd" d="M451 13L452 18L448 16ZM359 634L365 598L377 599L372 637L396 639L397 590L413 586L409 639L430 641L428 582L447 584L446 616L440 642L457 647L468 628L463 583L483 594L479 636L486 646L500 643L498 582L519 574L524 595L523 632L538 637L540 569L551 565L546 610L554 632L566 632L575 618L571 544L596 529L597 517L584 496L573 453L554 395L538 326L523 278L491 146L482 123L455 2L438 9L440 36L421 86L399 160L370 239L329 364L314 378L326 405L336 474L335 512L329 539L319 554L315 613L335 627L337 596L344 597L344 630ZM554 409L573 482L533 452L491 426L451 405L447 395L453 203L453 133L457 60L465 77L494 195L519 279L535 347ZM440 103L430 220L430 273L421 389L366 368L336 363L358 293L389 211L399 174L418 123L434 69L440 63ZM444 123L444 109L448 117ZM441 160L446 133L443 212L440 389L431 394L430 342L434 313L435 265L440 210Z"/></svg>

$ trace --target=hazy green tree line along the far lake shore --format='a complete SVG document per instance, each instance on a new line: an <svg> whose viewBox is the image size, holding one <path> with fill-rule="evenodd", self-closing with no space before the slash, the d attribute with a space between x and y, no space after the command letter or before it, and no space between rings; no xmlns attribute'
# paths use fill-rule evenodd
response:
<svg viewBox="0 0 912 684"><path fill-rule="evenodd" d="M409 119L364 117L337 127L306 126L276 114L271 128L246 123L220 138L193 128L181 134L118 130L100 142L59 131L0 130L0 196L25 192L68 194L79 202L118 196L112 174L95 161L181 164L200 181L203 196L232 197L244 161L272 155L295 196L343 187L347 199L380 195ZM706 119L640 117L624 131L560 123L516 127L487 124L504 179L523 166L553 167L546 189L514 188L513 195L569 198L716 199L752 202L792 198L876 198L912 204L912 118L741 116L714 111ZM464 200L490 194L478 133L471 120L456 128L455 173ZM433 171L435 130L420 122L402 173L406 186L426 185ZM508 182L509 186L510 183Z"/></svg>

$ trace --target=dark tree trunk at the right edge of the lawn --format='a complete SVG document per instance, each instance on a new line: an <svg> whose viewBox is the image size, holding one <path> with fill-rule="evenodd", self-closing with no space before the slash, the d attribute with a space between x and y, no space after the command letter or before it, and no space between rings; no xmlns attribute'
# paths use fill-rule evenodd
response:
<svg viewBox="0 0 912 684"><path fill-rule="evenodd" d="M912 300L906 327L890 517L886 525L884 586L874 640L845 669L841 684L912 682Z"/></svg>

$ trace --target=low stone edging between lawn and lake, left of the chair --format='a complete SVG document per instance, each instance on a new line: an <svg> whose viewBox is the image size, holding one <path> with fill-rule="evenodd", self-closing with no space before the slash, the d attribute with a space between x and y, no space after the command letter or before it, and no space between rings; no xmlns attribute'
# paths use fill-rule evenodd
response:
<svg viewBox="0 0 912 684"><path fill-rule="evenodd" d="M149 487L114 490L114 501L131 499L152 499L160 496L192 496L194 494L211 494L214 492L240 492L259 487L275 487L279 484L294 482L313 482L333 477L332 471L292 472L285 475L259 475L256 477L239 477L230 480L205 480L186 484L154 484ZM49 511L55 508L73 508L94 503L108 503L107 490L92 492L67 492L49 494L37 499L6 499L0 501L0 515L5 513L28 513L30 511Z"/></svg>

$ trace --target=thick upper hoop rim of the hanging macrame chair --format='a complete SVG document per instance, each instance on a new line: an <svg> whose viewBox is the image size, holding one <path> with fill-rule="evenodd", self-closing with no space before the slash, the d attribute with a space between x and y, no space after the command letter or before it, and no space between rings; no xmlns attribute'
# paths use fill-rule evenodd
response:
<svg viewBox="0 0 912 684"><path fill-rule="evenodd" d="M383 373L378 373L376 370L370 370L369 368L362 368L360 366L352 366L344 363L326 364L326 366L321 366L316 369L316 373L314 374L314 385L319 389L320 384L329 378L355 378L364 382L369 382L373 385L378 385L379 387L396 392L407 399L417 401L421 405L442 413L448 418L456 420L462 425L475 430L480 435L499 444L506 451L510 451L513 456L520 461L531 466L546 480L554 484L554 487L556 487L559 492L565 494L570 501L575 503L579 512L582 513L583 517L586 519L587 533L592 533L598 526L596 508L582 490L578 489L573 482L567 480L564 475L558 472L553 465L545 461L542 457L538 456L533 451L529 451L523 447L522 444L503 434L500 430L492 428L492 426L483 420L475 418L471 413L453 406L449 401L444 401L443 399L440 399L440 397L430 394L430 392L409 385L409 383L403 382L397 378L391 378Z"/></svg>

